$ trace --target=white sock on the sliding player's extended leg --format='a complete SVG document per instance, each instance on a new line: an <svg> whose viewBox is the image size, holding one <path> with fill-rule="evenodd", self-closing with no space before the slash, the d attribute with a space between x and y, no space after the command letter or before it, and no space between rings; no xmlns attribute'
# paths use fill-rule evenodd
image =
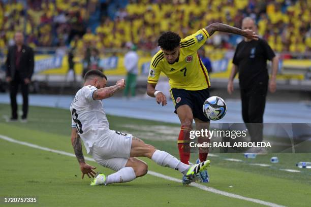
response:
<svg viewBox="0 0 311 207"><path fill-rule="evenodd" d="M186 172L189 169L188 164L184 164L180 162L178 159L176 159L174 156L170 155L169 153L161 150L156 150L151 160L153 160L155 163L164 166L164 167L170 167L172 169L176 169L180 171L182 174L186 174Z"/></svg>

